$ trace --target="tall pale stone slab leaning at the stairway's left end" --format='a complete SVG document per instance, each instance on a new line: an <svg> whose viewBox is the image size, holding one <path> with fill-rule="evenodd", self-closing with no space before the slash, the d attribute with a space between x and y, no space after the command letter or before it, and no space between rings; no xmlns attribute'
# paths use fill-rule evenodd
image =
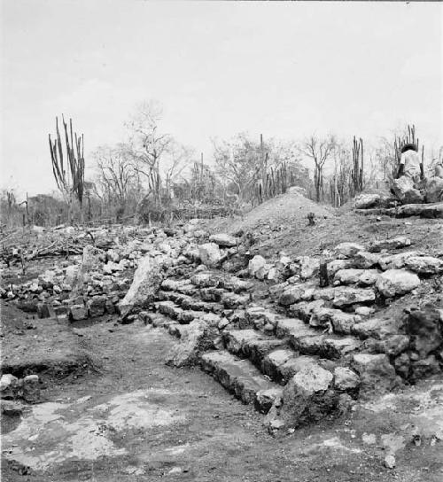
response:
<svg viewBox="0 0 443 482"><path fill-rule="evenodd" d="M159 291L162 280L162 267L158 262L152 260L149 255L139 260L134 280L125 297L120 301L120 315L123 317L128 315L133 307L147 307Z"/></svg>

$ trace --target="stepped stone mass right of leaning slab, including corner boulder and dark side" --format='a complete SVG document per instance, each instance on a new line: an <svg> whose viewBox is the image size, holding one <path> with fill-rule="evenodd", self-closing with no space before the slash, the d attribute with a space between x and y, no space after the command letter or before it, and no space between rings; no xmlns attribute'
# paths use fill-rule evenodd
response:
<svg viewBox="0 0 443 482"><path fill-rule="evenodd" d="M139 315L178 338L169 364L199 362L268 413L270 427L319 420L442 369L443 310L384 316L393 301L443 274L443 260L412 251L407 237L273 261L248 258L225 237L185 254L187 263L167 272ZM233 274L224 268L236 258L244 262ZM414 320L423 317L420 330Z"/></svg>

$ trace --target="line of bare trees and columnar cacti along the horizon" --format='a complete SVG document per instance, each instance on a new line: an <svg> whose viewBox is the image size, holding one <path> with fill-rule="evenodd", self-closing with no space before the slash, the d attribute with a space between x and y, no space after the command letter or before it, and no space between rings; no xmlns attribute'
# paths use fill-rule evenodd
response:
<svg viewBox="0 0 443 482"><path fill-rule="evenodd" d="M162 120L158 103L139 105L125 124L127 138L100 146L85 160L83 136L65 119L60 131L57 119L55 136L49 136L49 159L58 196L18 201L12 190L4 190L3 225L170 222L233 214L291 186L304 188L318 202L342 206L361 190L392 182L401 145L420 145L414 126L380 139L376 146L356 137L313 135L281 141L239 133L229 140L213 139L213 157L205 159L168 134ZM426 166L424 146L420 148L424 174L439 159L427 159ZM94 172L89 179L86 167Z"/></svg>

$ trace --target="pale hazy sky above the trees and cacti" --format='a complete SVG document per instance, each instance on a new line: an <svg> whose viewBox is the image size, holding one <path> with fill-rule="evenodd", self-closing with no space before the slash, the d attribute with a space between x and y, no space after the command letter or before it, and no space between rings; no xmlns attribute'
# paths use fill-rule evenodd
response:
<svg viewBox="0 0 443 482"><path fill-rule="evenodd" d="M440 3L0 0L1 185L56 189L48 134L72 117L90 153L144 100L211 158L211 138L312 133L376 142L415 123L443 145Z"/></svg>

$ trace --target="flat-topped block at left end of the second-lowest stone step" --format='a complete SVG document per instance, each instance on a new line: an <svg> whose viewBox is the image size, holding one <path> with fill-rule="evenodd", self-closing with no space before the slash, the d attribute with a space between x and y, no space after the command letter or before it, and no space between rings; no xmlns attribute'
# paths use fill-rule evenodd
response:
<svg viewBox="0 0 443 482"><path fill-rule="evenodd" d="M249 358L261 369L263 358L272 350L288 346L287 340L269 338L253 329L229 330L223 334L223 342L231 354Z"/></svg>

